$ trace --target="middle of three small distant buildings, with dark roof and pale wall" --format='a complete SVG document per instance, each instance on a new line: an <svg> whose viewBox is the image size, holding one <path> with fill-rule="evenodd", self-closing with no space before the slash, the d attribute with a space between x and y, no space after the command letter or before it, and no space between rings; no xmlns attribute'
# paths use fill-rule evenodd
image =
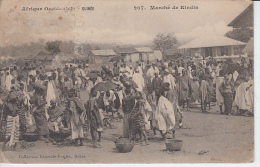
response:
<svg viewBox="0 0 260 167"><path fill-rule="evenodd" d="M139 53L135 48L115 48L117 55L123 57L124 61L135 62L139 60Z"/></svg>

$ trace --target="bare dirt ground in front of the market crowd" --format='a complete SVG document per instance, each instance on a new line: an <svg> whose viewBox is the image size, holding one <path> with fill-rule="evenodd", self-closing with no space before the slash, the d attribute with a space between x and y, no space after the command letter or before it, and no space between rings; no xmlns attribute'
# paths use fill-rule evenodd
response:
<svg viewBox="0 0 260 167"><path fill-rule="evenodd" d="M0 162L9 163L249 163L254 161L254 118L220 115L213 107L203 114L199 108L183 111L183 128L176 139L183 141L181 151L169 152L165 142L152 132L148 146L137 143L130 153L119 153L114 140L123 133L122 119L115 128L102 133L102 148L92 148L87 136L84 146L58 147L44 141L17 151L0 150ZM0 143L2 144L2 143Z"/></svg>

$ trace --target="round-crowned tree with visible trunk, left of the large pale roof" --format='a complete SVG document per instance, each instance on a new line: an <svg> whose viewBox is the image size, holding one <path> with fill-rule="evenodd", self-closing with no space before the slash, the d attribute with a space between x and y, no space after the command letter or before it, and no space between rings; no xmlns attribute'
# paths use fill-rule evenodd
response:
<svg viewBox="0 0 260 167"><path fill-rule="evenodd" d="M173 33L167 35L159 33L153 40L156 49L159 49L162 52L163 59L165 59L165 51L173 48L177 42L178 41Z"/></svg>

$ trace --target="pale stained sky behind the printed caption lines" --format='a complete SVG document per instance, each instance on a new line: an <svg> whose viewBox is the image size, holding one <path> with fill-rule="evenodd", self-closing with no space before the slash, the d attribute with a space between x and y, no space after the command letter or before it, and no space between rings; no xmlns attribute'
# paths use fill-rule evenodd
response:
<svg viewBox="0 0 260 167"><path fill-rule="evenodd" d="M52 40L77 43L151 44L158 33L174 33L186 43L203 35L224 35L229 24L250 1L245 0L2 0L0 45ZM197 6L198 9L150 10L150 6ZM82 7L94 11L82 11ZM145 10L134 10L144 6ZM23 7L43 8L22 11ZM73 11L44 8L75 7Z"/></svg>

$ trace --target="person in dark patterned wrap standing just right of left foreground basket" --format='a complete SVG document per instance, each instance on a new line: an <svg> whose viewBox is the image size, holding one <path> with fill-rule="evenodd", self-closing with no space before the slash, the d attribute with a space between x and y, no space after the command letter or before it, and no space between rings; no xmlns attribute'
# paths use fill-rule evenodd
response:
<svg viewBox="0 0 260 167"><path fill-rule="evenodd" d="M130 140L136 139L136 134L139 134L140 137L144 137L145 144L149 145L147 140L147 134L145 132L145 120L144 120L144 101L142 99L141 92L137 92L134 97L134 107L129 115L129 138Z"/></svg>

